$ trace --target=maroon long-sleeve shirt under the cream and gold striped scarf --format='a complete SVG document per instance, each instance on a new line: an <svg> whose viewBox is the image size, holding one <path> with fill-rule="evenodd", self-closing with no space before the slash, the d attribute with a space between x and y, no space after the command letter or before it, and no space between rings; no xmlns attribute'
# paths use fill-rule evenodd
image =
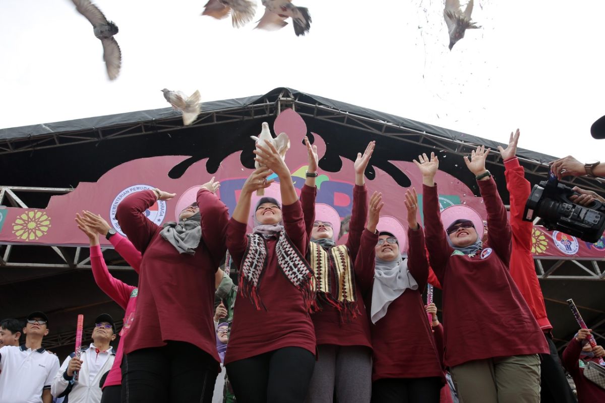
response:
<svg viewBox="0 0 605 403"><path fill-rule="evenodd" d="M316 187L304 185L301 191L302 213L307 234L310 236L315 222L315 194ZM355 262L359 250L361 234L364 231L365 218L368 214L368 192L365 185L356 185L353 188L353 211L349 226L347 243L345 244L353 263L355 272L355 299L359 314L350 321L343 322L341 314L330 304L322 305L321 311L311 315L315 326L317 344L334 344L336 346L367 346L372 347L370 340L370 321L365 309L363 295L371 288L374 276L373 265L358 266ZM330 272L330 274L332 274ZM332 279L334 289L338 285Z"/></svg>

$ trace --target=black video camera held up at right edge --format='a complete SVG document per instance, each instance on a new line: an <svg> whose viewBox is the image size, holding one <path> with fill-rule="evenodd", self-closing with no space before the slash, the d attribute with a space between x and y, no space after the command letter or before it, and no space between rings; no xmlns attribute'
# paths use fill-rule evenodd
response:
<svg viewBox="0 0 605 403"><path fill-rule="evenodd" d="M597 242L605 230L605 205L595 200L590 207L583 207L569 200L573 195L579 193L560 184L557 176L549 172L548 181L541 181L531 190L523 220L534 221L538 216L548 230L561 231L586 242Z"/></svg>

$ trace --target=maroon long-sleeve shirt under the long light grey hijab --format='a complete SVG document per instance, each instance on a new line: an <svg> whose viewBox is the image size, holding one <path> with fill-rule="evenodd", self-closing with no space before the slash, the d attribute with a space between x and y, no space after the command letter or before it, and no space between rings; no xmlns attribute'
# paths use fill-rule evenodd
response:
<svg viewBox="0 0 605 403"><path fill-rule="evenodd" d="M427 286L428 261L422 228L408 230L408 270L418 283L416 291L407 289L388 306L387 314L371 324L374 347L372 381L382 378L443 379L433 332L427 320L422 291ZM378 234L365 230L357 262L374 267ZM371 310L371 291L367 296L367 309Z"/></svg>

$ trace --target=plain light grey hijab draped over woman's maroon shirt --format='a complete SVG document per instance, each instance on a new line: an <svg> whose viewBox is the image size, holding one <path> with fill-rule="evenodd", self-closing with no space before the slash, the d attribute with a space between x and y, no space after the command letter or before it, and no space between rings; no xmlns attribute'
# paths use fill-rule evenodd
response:
<svg viewBox="0 0 605 403"><path fill-rule="evenodd" d="M418 289L418 283L408 270L408 259L399 256L397 260L387 261L376 257L374 267L376 270L370 309L372 323L384 317L391 302L399 298L406 289Z"/></svg>

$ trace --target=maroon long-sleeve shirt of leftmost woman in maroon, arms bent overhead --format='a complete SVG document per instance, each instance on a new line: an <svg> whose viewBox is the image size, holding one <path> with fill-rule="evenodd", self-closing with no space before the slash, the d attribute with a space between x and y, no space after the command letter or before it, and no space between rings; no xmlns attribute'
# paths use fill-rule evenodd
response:
<svg viewBox="0 0 605 403"><path fill-rule="evenodd" d="M200 245L194 255L180 254L160 236L162 227L145 217L155 204L152 190L132 193L118 205L116 218L143 254L139 273L136 320L124 352L186 341L219 362L214 331L214 275L226 251L226 205L206 189L197 193ZM140 319L139 319L140 318Z"/></svg>

